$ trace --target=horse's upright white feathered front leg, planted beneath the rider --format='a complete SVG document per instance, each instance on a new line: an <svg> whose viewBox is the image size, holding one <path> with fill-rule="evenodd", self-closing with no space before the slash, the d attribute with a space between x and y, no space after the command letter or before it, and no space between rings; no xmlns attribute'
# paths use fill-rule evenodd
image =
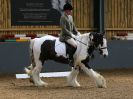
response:
<svg viewBox="0 0 133 99"><path fill-rule="evenodd" d="M79 74L79 68L72 68L71 73L69 74L69 76L67 77L67 82L69 86L73 86L73 87L79 87L80 84L77 81L77 75Z"/></svg>

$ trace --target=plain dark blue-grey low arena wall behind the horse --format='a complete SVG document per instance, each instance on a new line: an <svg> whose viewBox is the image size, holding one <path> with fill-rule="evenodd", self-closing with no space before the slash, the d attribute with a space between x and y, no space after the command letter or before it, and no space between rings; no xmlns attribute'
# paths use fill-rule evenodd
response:
<svg viewBox="0 0 133 99"><path fill-rule="evenodd" d="M103 58L98 51L89 65L95 70L132 69L133 41L113 40L108 42L109 56ZM28 42L7 42L0 44L0 73L24 73L30 65ZM69 71L71 67L54 61L46 61L42 72Z"/></svg>

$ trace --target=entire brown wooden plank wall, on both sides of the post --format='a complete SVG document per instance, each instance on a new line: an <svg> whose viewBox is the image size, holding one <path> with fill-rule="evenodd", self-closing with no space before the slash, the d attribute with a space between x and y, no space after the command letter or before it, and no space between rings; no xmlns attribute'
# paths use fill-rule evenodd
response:
<svg viewBox="0 0 133 99"><path fill-rule="evenodd" d="M133 31L133 0L104 0L108 38ZM75 25L82 33L93 31L93 0L72 0ZM0 0L0 35L7 33L59 33L59 26L11 26L10 0Z"/></svg>

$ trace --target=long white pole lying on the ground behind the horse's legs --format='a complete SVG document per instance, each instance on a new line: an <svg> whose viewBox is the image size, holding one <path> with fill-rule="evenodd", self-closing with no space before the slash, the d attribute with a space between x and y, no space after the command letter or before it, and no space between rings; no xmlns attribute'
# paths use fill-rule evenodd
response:
<svg viewBox="0 0 133 99"><path fill-rule="evenodd" d="M40 73L40 77L66 77L70 74L69 71L66 72L49 72L49 73ZM30 78L28 74L16 74L17 79L21 78Z"/></svg>

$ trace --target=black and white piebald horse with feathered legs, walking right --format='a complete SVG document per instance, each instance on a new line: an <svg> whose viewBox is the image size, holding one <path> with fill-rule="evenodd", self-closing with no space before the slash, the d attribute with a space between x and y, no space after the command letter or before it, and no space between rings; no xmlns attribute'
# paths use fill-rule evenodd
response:
<svg viewBox="0 0 133 99"><path fill-rule="evenodd" d="M89 32L76 37L77 49L73 55L73 66L67 76L68 86L80 87L77 81L79 71L84 71L94 80L98 88L106 88L105 78L94 71L88 62L94 50L98 50L104 57L108 56L107 40L102 33ZM25 72L30 75L35 86L47 86L41 80L39 73L47 60L69 64L69 51L71 47L65 42L60 42L58 37L46 35L30 41L31 65L25 67Z"/></svg>

